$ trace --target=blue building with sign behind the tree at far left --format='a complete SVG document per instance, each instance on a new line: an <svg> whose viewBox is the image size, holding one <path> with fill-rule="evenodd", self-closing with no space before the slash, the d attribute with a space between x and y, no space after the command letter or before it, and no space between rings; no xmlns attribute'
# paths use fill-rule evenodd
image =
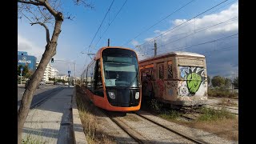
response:
<svg viewBox="0 0 256 144"><path fill-rule="evenodd" d="M29 70L36 69L37 58L33 55L28 55L26 51L18 51L18 66L28 66Z"/></svg>

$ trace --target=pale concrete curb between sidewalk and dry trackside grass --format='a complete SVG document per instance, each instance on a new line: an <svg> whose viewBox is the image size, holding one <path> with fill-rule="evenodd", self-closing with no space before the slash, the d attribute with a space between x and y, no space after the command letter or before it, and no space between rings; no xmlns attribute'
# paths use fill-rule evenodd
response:
<svg viewBox="0 0 256 144"><path fill-rule="evenodd" d="M73 114L73 132L74 132L74 143L86 143L86 135L83 132L82 122L79 117L78 106L76 102L76 88L74 86L74 93L72 97L72 114Z"/></svg>

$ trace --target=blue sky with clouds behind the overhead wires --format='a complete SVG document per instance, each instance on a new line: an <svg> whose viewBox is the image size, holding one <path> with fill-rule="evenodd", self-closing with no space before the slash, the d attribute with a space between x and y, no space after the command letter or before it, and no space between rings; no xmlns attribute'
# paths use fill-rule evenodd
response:
<svg viewBox="0 0 256 144"><path fill-rule="evenodd" d="M155 37L158 54L176 50L204 54L210 76L233 77L238 73L238 1L115 0L99 30L113 0L87 2L93 4L93 10L74 6L73 1L62 1L62 13L72 14L74 19L65 19L62 23L57 54L54 56L57 60L75 62L77 76L80 76L90 62L90 58L81 53L87 53L90 43L90 53L95 53L106 46L107 38L110 38L110 46L132 48L143 59L153 56L154 42L148 41ZM216 6L221 2L223 3ZM187 3L189 4L185 6ZM184 7L178 10L182 6ZM118 13L121 7L122 10ZM209 10L211 7L214 8ZM178 11L174 13L175 10ZM209 11L194 18L206 10ZM167 17L168 15L170 16ZM162 20L163 18L165 19ZM157 22L159 23L156 24ZM154 24L156 25L153 26ZM51 34L53 26L48 26ZM135 38L136 36L138 37ZM18 50L27 51L40 60L45 46L45 29L40 25L30 26L26 18L18 19ZM74 74L72 63L56 61L51 65L61 74L67 74L70 69Z"/></svg>

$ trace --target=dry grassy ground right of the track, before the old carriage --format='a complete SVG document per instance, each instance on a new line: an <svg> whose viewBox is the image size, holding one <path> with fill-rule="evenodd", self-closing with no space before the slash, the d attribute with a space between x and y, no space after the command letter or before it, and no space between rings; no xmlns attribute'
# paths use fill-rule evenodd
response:
<svg viewBox="0 0 256 144"><path fill-rule="evenodd" d="M224 109L212 110L201 107L198 110L201 111L202 114L198 114L199 116L194 121L187 122L181 119L181 115L184 114L184 111L162 108L162 110L158 110L158 113L153 113L170 122L205 130L228 140L238 141L238 118L234 114L230 114Z"/></svg>

